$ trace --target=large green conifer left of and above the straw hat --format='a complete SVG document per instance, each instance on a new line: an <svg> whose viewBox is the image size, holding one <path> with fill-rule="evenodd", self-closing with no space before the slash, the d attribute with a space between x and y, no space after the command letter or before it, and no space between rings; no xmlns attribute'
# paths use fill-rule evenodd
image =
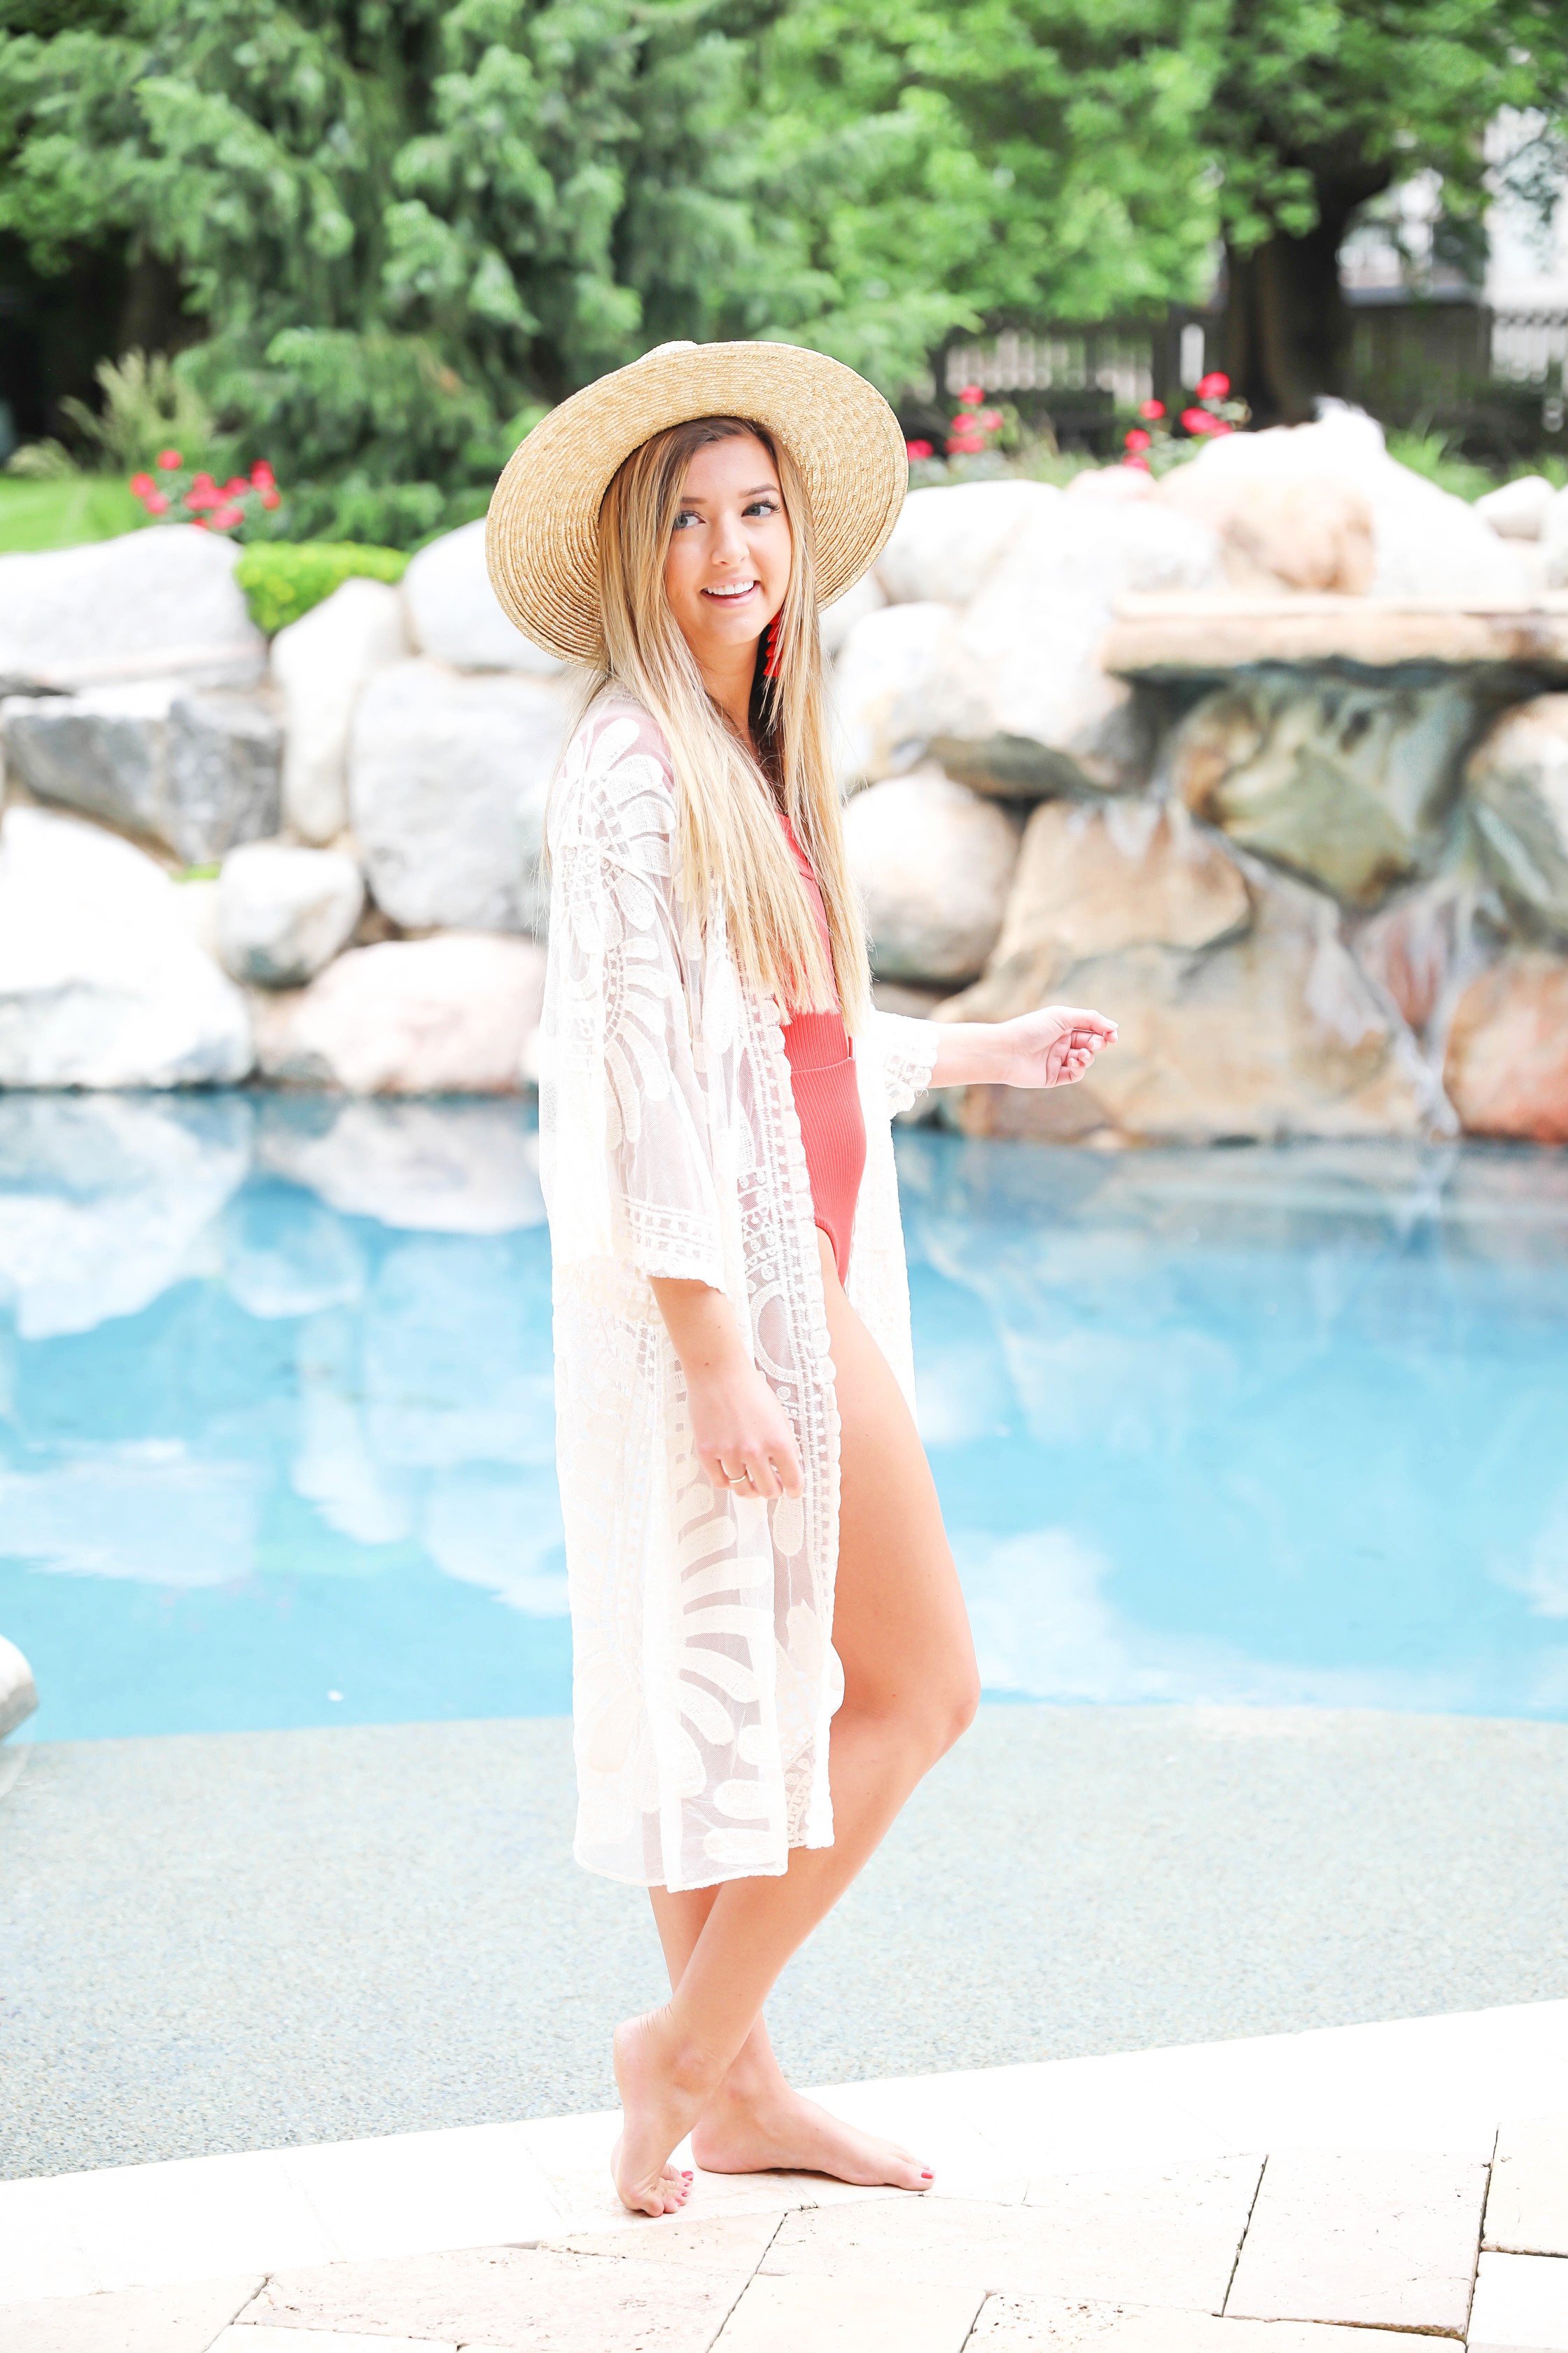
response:
<svg viewBox="0 0 1568 2353"><path fill-rule="evenodd" d="M0 35L0 235L174 273L179 365L313 485L292 529L480 511L543 402L715 332L745 273L733 89L769 0L45 7Z"/></svg>

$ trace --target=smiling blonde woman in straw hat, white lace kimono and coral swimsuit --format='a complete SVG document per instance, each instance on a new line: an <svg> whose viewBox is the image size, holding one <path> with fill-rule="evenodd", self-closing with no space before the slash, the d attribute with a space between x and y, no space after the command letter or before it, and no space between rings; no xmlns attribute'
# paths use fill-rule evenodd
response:
<svg viewBox="0 0 1568 2353"><path fill-rule="evenodd" d="M914 1431L889 1115L1065 1085L1046 1007L870 1007L818 607L907 464L837 360L668 344L555 409L489 518L517 626L590 671L550 807L541 1153L574 1631L576 1854L644 1885L670 2000L616 2031L614 2179L922 2191L802 2099L762 2005L969 1725L978 1675Z"/></svg>

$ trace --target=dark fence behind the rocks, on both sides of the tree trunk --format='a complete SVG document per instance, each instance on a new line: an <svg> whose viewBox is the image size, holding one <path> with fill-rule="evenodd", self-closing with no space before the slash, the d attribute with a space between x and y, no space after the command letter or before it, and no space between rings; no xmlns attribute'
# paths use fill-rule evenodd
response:
<svg viewBox="0 0 1568 2353"><path fill-rule="evenodd" d="M1180 400L1225 365L1225 313L1171 308L1164 318L1004 329L952 344L943 384L980 384L1025 414L1048 412L1058 431L1088 433L1140 400ZM1497 424L1563 433L1568 311L1493 311L1476 301L1352 299L1352 398L1387 424L1420 419L1467 431Z"/></svg>

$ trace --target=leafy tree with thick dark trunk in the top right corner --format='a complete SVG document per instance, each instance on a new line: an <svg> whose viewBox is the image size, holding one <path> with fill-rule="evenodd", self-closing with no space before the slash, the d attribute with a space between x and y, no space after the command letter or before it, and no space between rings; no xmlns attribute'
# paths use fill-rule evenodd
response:
<svg viewBox="0 0 1568 2353"><path fill-rule="evenodd" d="M1227 369L1258 424L1345 395L1338 256L1359 209L1439 172L1450 216L1486 202L1505 106L1561 115L1561 0L1232 0L1201 136L1218 172Z"/></svg>

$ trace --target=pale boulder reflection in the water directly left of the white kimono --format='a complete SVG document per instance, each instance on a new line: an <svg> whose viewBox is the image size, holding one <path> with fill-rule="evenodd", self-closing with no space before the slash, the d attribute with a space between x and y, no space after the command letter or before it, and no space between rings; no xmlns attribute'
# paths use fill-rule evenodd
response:
<svg viewBox="0 0 1568 2353"><path fill-rule="evenodd" d="M520 1104L324 1106L273 1096L261 1106L256 1158L343 1217L383 1226L515 1233L545 1219L538 1134Z"/></svg>

